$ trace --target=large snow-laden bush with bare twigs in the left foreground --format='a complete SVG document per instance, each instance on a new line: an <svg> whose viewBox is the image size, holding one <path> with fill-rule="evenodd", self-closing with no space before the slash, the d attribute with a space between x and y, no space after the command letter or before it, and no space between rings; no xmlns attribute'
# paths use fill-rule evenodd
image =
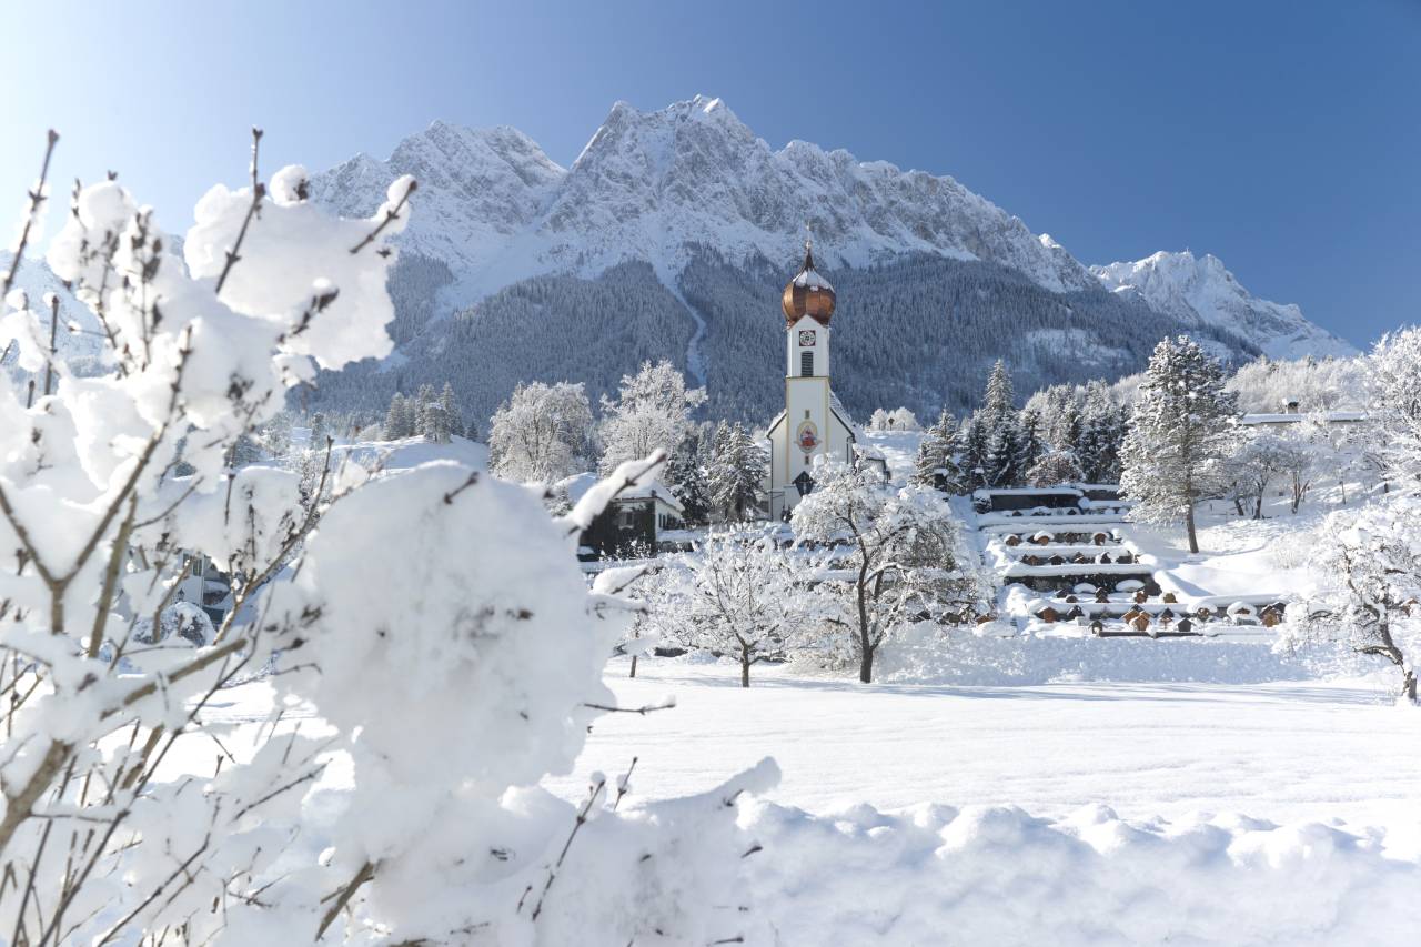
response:
<svg viewBox="0 0 1421 947"><path fill-rule="evenodd" d="M745 903L733 802L773 764L641 809L618 810L625 779L594 775L581 806L537 785L614 710L601 665L632 609L587 590L573 543L662 458L563 520L452 462L331 469L330 441L315 483L233 469L288 387L389 351L389 239L415 191L331 219L300 168L260 181L259 141L250 185L199 202L186 267L118 182L75 189L48 263L102 326L105 374L37 346L30 310L3 321L0 346L57 387L27 405L0 385L0 937L736 937L703 892ZM173 601L196 556L230 580L216 628ZM242 741L205 712L263 668L321 735L277 735L286 702ZM173 762L189 747L216 772ZM330 775L345 761L350 785Z"/></svg>

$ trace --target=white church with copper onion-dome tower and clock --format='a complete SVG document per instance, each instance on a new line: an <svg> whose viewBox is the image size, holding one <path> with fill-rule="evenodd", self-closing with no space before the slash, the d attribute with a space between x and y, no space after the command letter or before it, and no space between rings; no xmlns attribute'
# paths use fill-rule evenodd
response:
<svg viewBox="0 0 1421 947"><path fill-rule="evenodd" d="M770 441L770 519L786 519L814 489L817 458L854 462L854 425L830 387L830 320L834 287L814 269L804 243L804 266L784 287L784 411L767 431Z"/></svg>

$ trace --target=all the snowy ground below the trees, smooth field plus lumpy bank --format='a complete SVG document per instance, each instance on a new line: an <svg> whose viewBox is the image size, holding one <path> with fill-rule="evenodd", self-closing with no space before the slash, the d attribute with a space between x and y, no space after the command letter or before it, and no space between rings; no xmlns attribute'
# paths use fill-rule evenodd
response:
<svg viewBox="0 0 1421 947"><path fill-rule="evenodd" d="M1098 643L1097 643L1098 644ZM1150 647L1154 643L1141 643ZM1374 680L863 685L730 664L608 667L622 707L550 788L637 759L627 806L773 756L740 802L749 944L1394 944L1421 924L1421 715ZM225 692L250 752L271 690ZM243 722L244 721L244 722ZM288 708L276 732L320 721ZM199 737L175 758L210 774ZM323 786L350 779L344 761ZM321 806L321 793L311 805Z"/></svg>

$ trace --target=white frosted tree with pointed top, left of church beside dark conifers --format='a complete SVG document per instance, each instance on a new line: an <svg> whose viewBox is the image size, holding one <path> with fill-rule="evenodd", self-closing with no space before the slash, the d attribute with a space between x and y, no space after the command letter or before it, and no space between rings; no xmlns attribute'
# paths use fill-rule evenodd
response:
<svg viewBox="0 0 1421 947"><path fill-rule="evenodd" d="M654 451L674 454L692 431L691 412L705 400L705 388L686 388L669 361L647 361L635 375L622 375L617 400L603 398L603 472Z"/></svg>

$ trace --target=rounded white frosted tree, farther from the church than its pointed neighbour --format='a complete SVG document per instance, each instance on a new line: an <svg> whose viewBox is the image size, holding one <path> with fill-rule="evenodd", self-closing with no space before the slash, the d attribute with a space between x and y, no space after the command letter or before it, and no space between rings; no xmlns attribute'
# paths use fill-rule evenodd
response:
<svg viewBox="0 0 1421 947"><path fill-rule="evenodd" d="M489 421L489 466L519 483L553 483L585 469L593 408L580 384L530 381Z"/></svg>

